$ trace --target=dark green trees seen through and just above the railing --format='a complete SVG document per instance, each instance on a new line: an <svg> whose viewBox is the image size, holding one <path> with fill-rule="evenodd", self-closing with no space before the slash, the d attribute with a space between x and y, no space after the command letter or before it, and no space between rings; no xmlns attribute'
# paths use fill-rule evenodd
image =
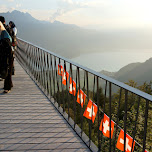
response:
<svg viewBox="0 0 152 152"><path fill-rule="evenodd" d="M128 85L140 89L146 93L152 94L152 82L144 83L141 86L137 86L137 83L130 80ZM85 88L83 91L87 94ZM97 99L99 101L99 118L96 116L95 122L92 123L91 120L83 117L83 113L87 107L88 97L86 98L86 103L82 108L77 102L77 94L73 96L69 94L68 90L63 90L57 92L55 96L58 96L58 100L60 101L60 105L65 109L65 111L69 114L69 116L75 121L75 123L85 132L85 134L98 146L101 146L102 151L109 151L110 140L107 137L104 137L102 132L99 131L100 122L103 118L103 112L109 116L109 97L103 93L103 89L99 88L98 93L97 91L89 91L89 99L91 99L94 103L97 103ZM127 98L127 121L126 121L126 128L127 134L131 137L134 136L135 133L135 140L140 145L143 144L144 138L144 122L145 122L145 108L146 108L146 100L140 98L133 93L128 93ZM111 116L114 122L117 122L118 117L118 126L115 125L115 131L113 134L113 138L111 140L111 147L112 151L116 150L117 139L119 136L120 129L124 129L124 114L125 114L125 90L121 91L120 97L120 90L112 95L111 100ZM119 104L120 103L120 104ZM139 103L139 110L138 110L138 103ZM137 114L138 111L138 115ZM98 120L99 119L99 120ZM137 119L137 121L136 121ZM99 121L99 123L98 123ZM152 145L152 103L149 102L149 111L148 111L148 122L147 122L147 138L146 138L146 149L151 151ZM117 128L117 132L116 132ZM99 134L99 138L98 138ZM116 137L116 139L115 139ZM142 147L140 147L137 143L135 144L134 151L142 151Z"/></svg>

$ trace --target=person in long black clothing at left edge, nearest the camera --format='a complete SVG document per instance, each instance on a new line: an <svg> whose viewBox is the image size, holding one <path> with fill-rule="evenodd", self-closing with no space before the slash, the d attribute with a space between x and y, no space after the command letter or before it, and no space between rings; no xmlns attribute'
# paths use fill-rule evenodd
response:
<svg viewBox="0 0 152 152"><path fill-rule="evenodd" d="M3 23L0 21L0 72L4 71L4 93L9 93L13 87L12 83L12 67L13 53L11 48L12 38L6 31Z"/></svg>

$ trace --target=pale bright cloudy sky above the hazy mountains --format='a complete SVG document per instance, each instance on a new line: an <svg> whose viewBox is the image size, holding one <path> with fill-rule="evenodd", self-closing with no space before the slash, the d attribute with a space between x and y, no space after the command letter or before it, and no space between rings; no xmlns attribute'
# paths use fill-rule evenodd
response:
<svg viewBox="0 0 152 152"><path fill-rule="evenodd" d="M152 27L151 8L152 0L0 0L0 12L19 10L90 29Z"/></svg>

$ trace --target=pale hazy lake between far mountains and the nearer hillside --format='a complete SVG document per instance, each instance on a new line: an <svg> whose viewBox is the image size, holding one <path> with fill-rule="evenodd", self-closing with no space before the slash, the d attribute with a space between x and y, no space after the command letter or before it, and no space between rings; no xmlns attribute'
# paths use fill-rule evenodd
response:
<svg viewBox="0 0 152 152"><path fill-rule="evenodd" d="M126 52L116 51L82 54L71 60L97 72L102 70L116 72L129 63L145 62L151 57L152 51L150 50L140 50L140 52L128 50Z"/></svg>

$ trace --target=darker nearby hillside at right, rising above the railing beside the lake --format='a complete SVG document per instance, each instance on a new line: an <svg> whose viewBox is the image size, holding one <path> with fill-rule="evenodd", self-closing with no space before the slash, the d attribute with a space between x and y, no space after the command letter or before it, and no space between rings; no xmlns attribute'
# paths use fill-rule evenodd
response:
<svg viewBox="0 0 152 152"><path fill-rule="evenodd" d="M111 76L121 82L128 82L134 80L137 84L142 85L144 82L152 81L152 58L143 63L131 63L118 72L112 73L101 71L102 74Z"/></svg>

